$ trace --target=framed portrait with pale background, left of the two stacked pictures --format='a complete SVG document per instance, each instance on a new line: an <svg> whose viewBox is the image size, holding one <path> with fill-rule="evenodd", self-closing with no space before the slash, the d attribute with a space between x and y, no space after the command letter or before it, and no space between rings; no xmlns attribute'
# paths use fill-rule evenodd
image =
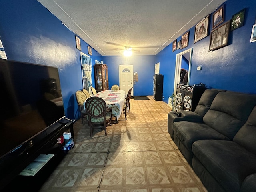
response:
<svg viewBox="0 0 256 192"><path fill-rule="evenodd" d="M209 15L195 27L194 43L208 36Z"/></svg>

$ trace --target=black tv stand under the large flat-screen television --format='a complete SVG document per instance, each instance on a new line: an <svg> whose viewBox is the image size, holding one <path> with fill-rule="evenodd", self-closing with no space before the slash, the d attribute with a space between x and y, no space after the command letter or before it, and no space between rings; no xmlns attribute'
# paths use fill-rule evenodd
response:
<svg viewBox="0 0 256 192"><path fill-rule="evenodd" d="M74 122L75 120L62 118L23 144L17 149L16 154L8 155L4 160L1 160L0 192L14 191L17 186L19 191L35 192L39 190L54 168L68 152L62 150L62 145L58 144L58 138L60 138L64 132L70 132L74 140ZM43 139L40 140L40 138ZM19 176L19 173L40 154L54 154L54 156L35 176Z"/></svg>

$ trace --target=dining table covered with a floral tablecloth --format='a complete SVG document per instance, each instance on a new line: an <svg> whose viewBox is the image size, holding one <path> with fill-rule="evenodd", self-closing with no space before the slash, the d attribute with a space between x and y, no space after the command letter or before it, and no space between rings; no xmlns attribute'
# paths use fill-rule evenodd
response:
<svg viewBox="0 0 256 192"><path fill-rule="evenodd" d="M125 102L125 91L124 90L104 90L93 95L94 97L100 97L105 102L107 107L112 109L112 117L116 117L113 123L118 123L123 106Z"/></svg>

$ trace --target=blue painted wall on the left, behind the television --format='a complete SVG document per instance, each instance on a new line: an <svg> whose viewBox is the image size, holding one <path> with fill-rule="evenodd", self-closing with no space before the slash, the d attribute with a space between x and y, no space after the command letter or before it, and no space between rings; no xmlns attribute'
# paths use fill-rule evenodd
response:
<svg viewBox="0 0 256 192"><path fill-rule="evenodd" d="M75 34L36 0L0 0L0 7L0 37L7 58L58 67L65 114L78 118L75 92L82 89L82 71ZM87 46L81 40L85 54ZM91 57L94 64L102 56L93 49Z"/></svg>

